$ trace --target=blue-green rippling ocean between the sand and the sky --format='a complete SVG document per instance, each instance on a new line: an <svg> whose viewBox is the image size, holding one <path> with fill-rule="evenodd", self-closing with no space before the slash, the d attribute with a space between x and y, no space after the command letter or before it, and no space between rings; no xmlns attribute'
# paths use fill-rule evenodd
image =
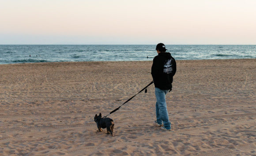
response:
<svg viewBox="0 0 256 156"><path fill-rule="evenodd" d="M156 45L0 45L0 64L152 61ZM256 58L256 45L166 45L176 60Z"/></svg>

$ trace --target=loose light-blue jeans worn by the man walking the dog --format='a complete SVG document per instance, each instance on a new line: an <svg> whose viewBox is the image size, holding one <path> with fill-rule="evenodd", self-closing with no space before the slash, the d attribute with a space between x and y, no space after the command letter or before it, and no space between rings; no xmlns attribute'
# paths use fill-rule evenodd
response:
<svg viewBox="0 0 256 156"><path fill-rule="evenodd" d="M167 130L171 129L171 122L169 121L167 106L166 106L166 94L169 90L162 90L155 87L155 96L156 96L156 119L158 124L164 123L164 127Z"/></svg>

